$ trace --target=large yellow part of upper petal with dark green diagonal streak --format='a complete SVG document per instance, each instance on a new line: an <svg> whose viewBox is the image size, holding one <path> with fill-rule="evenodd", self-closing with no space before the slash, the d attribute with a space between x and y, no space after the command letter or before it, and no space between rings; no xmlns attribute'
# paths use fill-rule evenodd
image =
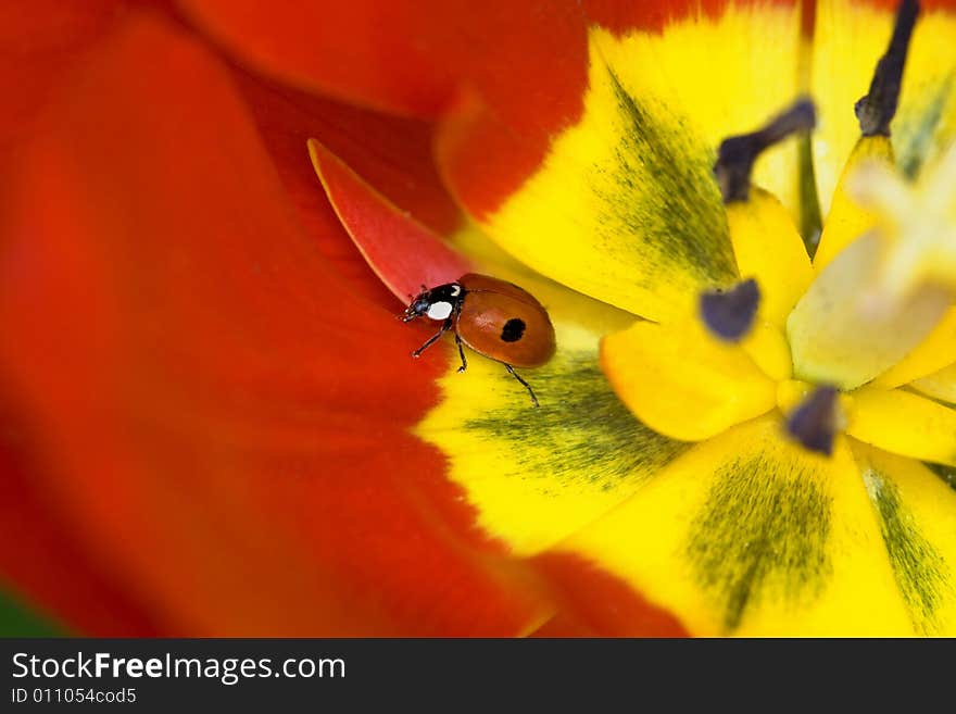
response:
<svg viewBox="0 0 956 714"><path fill-rule="evenodd" d="M796 96L798 39L797 10L779 5L730 3L659 33L592 29L582 118L482 227L580 292L656 321L685 313L702 288L738 277L717 146ZM789 145L754 178L794 197L796 176Z"/></svg>

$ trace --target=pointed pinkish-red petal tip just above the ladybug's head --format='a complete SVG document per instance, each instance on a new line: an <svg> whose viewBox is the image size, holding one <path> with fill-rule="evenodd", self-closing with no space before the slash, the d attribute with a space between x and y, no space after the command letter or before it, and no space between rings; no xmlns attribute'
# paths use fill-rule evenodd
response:
<svg viewBox="0 0 956 714"><path fill-rule="evenodd" d="M372 270L407 303L422 286L457 280L471 263L364 181L318 140L309 153L339 220Z"/></svg>

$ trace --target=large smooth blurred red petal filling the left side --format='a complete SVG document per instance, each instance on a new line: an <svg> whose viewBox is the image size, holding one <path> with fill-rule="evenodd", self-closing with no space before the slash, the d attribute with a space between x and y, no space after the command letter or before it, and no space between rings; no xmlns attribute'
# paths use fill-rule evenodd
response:
<svg viewBox="0 0 956 714"><path fill-rule="evenodd" d="M526 568L408 435L445 365L342 290L211 54L139 20L35 136L0 186L5 378L37 488L161 632L540 618Z"/></svg>

